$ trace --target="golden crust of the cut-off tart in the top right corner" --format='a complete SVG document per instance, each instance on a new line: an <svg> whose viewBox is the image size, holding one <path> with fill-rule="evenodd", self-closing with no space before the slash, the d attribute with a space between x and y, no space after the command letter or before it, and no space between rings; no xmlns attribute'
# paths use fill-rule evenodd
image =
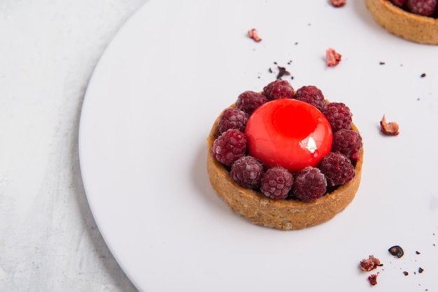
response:
<svg viewBox="0 0 438 292"><path fill-rule="evenodd" d="M365 0L374 20L387 31L408 41L438 45L438 20L409 13L388 0Z"/></svg>

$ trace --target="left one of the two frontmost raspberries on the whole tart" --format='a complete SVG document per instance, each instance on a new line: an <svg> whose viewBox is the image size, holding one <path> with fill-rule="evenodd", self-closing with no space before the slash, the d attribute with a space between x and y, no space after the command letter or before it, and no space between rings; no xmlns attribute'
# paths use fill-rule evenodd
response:
<svg viewBox="0 0 438 292"><path fill-rule="evenodd" d="M260 191L269 198L286 198L293 182L294 178L289 170L282 166L274 166L262 176Z"/></svg>

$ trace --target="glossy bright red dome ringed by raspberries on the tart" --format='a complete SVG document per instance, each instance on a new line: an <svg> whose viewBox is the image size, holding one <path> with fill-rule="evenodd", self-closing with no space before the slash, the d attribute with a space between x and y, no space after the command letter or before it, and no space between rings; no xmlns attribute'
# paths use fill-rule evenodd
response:
<svg viewBox="0 0 438 292"><path fill-rule="evenodd" d="M332 128L309 103L282 98L261 105L248 119L248 153L266 166L297 173L318 163L332 148Z"/></svg>

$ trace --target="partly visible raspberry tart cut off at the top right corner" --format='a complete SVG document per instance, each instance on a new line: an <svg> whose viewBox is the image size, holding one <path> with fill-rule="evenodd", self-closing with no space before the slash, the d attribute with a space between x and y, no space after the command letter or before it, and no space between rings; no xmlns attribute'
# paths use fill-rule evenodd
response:
<svg viewBox="0 0 438 292"><path fill-rule="evenodd" d="M391 34L438 45L436 0L365 0L374 20Z"/></svg>

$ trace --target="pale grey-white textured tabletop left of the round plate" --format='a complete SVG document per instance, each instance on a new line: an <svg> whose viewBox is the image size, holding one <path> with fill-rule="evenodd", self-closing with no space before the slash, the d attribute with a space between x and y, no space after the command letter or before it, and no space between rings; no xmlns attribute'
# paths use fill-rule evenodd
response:
<svg viewBox="0 0 438 292"><path fill-rule="evenodd" d="M145 0L0 0L0 291L135 291L78 162L94 66Z"/></svg>

